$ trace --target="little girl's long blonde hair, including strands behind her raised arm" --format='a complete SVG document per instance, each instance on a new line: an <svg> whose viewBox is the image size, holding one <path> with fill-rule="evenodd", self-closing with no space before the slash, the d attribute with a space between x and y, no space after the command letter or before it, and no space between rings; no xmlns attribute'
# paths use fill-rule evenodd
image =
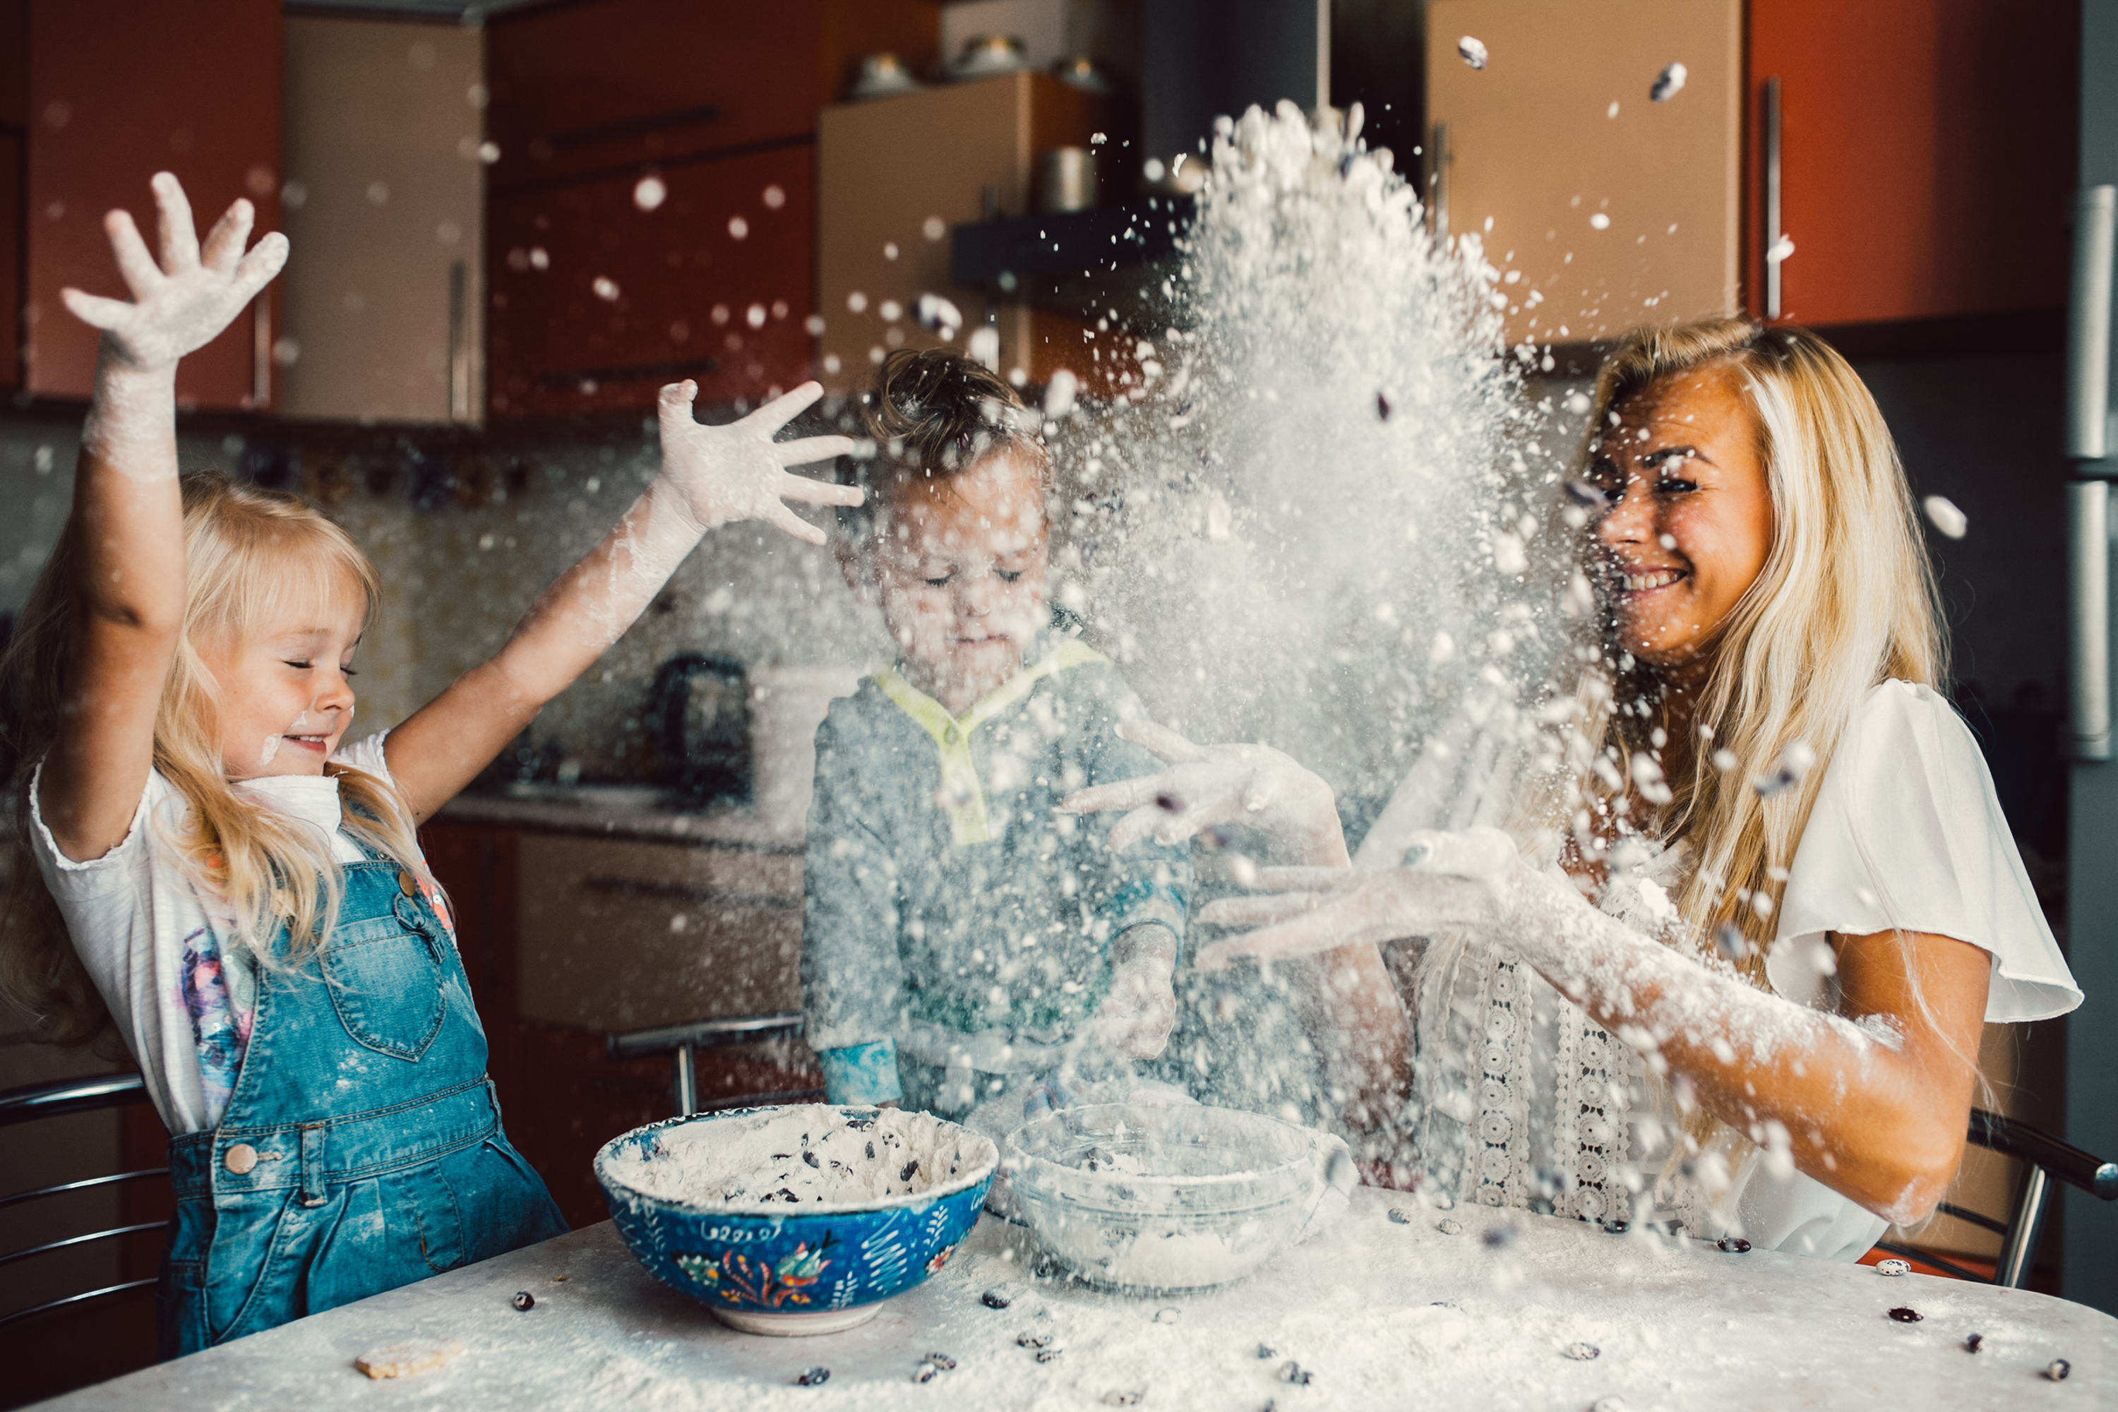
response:
<svg viewBox="0 0 2118 1412"><path fill-rule="evenodd" d="M85 1044L110 1022L30 853L30 777L59 735L74 652L76 533L68 521L0 660L0 730L17 762L0 991L36 1016L40 1037L53 1044ZM313 506L214 472L184 481L184 627L155 713L155 768L189 809L148 845L167 849L237 919L241 942L267 965L299 963L330 934L343 874L324 834L231 788L216 726L222 684L199 648L244 641L290 605L345 595L360 597L373 622L381 578L352 536ZM411 809L396 790L360 771L324 768L339 779L345 832L430 883ZM273 955L282 919L290 942Z"/></svg>

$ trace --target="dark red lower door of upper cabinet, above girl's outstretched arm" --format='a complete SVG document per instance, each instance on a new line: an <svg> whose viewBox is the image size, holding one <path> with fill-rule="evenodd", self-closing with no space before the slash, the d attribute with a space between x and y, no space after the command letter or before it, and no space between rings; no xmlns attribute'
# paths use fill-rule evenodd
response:
<svg viewBox="0 0 2118 1412"><path fill-rule="evenodd" d="M809 375L811 152L491 193L487 385L496 417L758 400Z"/></svg>

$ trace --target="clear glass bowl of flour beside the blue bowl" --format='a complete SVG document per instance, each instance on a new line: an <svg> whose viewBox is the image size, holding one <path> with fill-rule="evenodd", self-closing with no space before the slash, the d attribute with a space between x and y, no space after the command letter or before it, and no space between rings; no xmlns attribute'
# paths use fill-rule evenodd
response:
<svg viewBox="0 0 2118 1412"><path fill-rule="evenodd" d="M1353 1185L1345 1143L1328 1133L1228 1107L1133 1103L1023 1124L1008 1135L1004 1173L1051 1255L1123 1289L1243 1279Z"/></svg>

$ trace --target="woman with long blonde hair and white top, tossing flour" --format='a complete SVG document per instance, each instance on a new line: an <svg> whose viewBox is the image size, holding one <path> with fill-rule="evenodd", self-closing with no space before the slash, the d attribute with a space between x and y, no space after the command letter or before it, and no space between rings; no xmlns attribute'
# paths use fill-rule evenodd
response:
<svg viewBox="0 0 2118 1412"><path fill-rule="evenodd" d="M1156 792L1290 840L1288 895L1207 908L1258 929L1199 965L1343 957L1370 1082L1406 1031L1364 948L1419 938L1411 1111L1442 1190L1853 1260L1953 1179L1980 1025L2080 991L1938 694L1910 489L1845 360L1743 320L1639 330L1588 436L1601 631L1527 752L1527 826L1347 868L1284 756L1173 739L1167 775L1072 802L1135 809L1120 843L1216 821L1156 821Z"/></svg>

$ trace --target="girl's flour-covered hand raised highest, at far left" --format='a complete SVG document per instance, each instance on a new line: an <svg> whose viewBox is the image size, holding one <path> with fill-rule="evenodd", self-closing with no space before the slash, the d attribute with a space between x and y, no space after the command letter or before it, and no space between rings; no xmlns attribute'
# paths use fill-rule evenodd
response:
<svg viewBox="0 0 2118 1412"><path fill-rule="evenodd" d="M277 231L244 254L252 220L248 201L214 222L201 250L178 180L157 171L150 184L161 212L161 263L148 254L129 212L104 216L131 303L59 290L74 318L104 330L106 354L140 370L174 368L184 354L212 343L286 265L286 237Z"/></svg>

